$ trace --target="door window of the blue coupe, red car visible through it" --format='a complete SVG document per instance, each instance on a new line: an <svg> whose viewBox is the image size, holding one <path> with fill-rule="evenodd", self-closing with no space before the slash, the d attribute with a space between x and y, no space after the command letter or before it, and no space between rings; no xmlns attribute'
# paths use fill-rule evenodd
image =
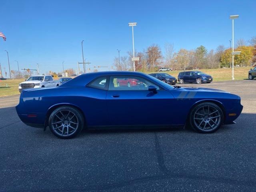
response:
<svg viewBox="0 0 256 192"><path fill-rule="evenodd" d="M157 90L159 86L152 82L136 76L111 76L108 90L148 90L148 86L154 85Z"/></svg>

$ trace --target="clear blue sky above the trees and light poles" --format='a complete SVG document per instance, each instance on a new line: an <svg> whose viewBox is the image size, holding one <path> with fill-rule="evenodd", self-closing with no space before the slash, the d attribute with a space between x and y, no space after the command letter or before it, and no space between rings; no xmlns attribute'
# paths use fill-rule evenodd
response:
<svg viewBox="0 0 256 192"><path fill-rule="evenodd" d="M0 4L0 63L11 69L36 68L60 72L76 68L84 56L91 66L111 66L120 49L121 56L132 50L134 28L135 49L155 43L164 52L165 42L180 48L194 49L200 45L208 50L232 38L229 16L235 20L235 40L256 36L255 0L171 1L171 0L6 0Z"/></svg>

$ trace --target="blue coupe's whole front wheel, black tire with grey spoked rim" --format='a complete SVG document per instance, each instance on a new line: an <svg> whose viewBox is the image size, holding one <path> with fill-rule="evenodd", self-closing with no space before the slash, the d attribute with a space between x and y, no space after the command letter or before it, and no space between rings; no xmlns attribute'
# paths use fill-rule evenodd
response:
<svg viewBox="0 0 256 192"><path fill-rule="evenodd" d="M201 110L202 107L204 108L203 111ZM213 113L214 111L216 112ZM202 116L201 114L203 112L205 113ZM212 116L215 116L215 118ZM212 120L209 120L210 118ZM194 106L194 108L191 110L189 115L190 125L195 131L200 133L216 132L222 126L223 121L224 121L224 115L221 108L212 102L204 102ZM199 127L198 127L198 124L199 124Z"/></svg>

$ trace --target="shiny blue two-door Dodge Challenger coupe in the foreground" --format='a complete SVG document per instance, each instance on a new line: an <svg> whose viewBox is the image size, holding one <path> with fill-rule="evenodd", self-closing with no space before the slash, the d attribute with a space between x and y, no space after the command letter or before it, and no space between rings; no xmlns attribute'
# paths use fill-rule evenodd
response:
<svg viewBox="0 0 256 192"><path fill-rule="evenodd" d="M49 126L59 138L83 128L172 128L191 126L212 133L233 124L241 98L209 88L170 86L140 72L96 72L61 86L25 89L16 106L28 126Z"/></svg>

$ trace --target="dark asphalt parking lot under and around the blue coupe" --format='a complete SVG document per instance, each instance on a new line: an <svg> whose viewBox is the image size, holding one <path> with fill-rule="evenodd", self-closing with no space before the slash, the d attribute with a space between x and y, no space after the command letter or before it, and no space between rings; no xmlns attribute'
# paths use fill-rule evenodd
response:
<svg viewBox="0 0 256 192"><path fill-rule="evenodd" d="M19 96L0 98L0 192L256 191L256 80L184 84L242 98L237 124L82 131L71 140L20 122Z"/></svg>

